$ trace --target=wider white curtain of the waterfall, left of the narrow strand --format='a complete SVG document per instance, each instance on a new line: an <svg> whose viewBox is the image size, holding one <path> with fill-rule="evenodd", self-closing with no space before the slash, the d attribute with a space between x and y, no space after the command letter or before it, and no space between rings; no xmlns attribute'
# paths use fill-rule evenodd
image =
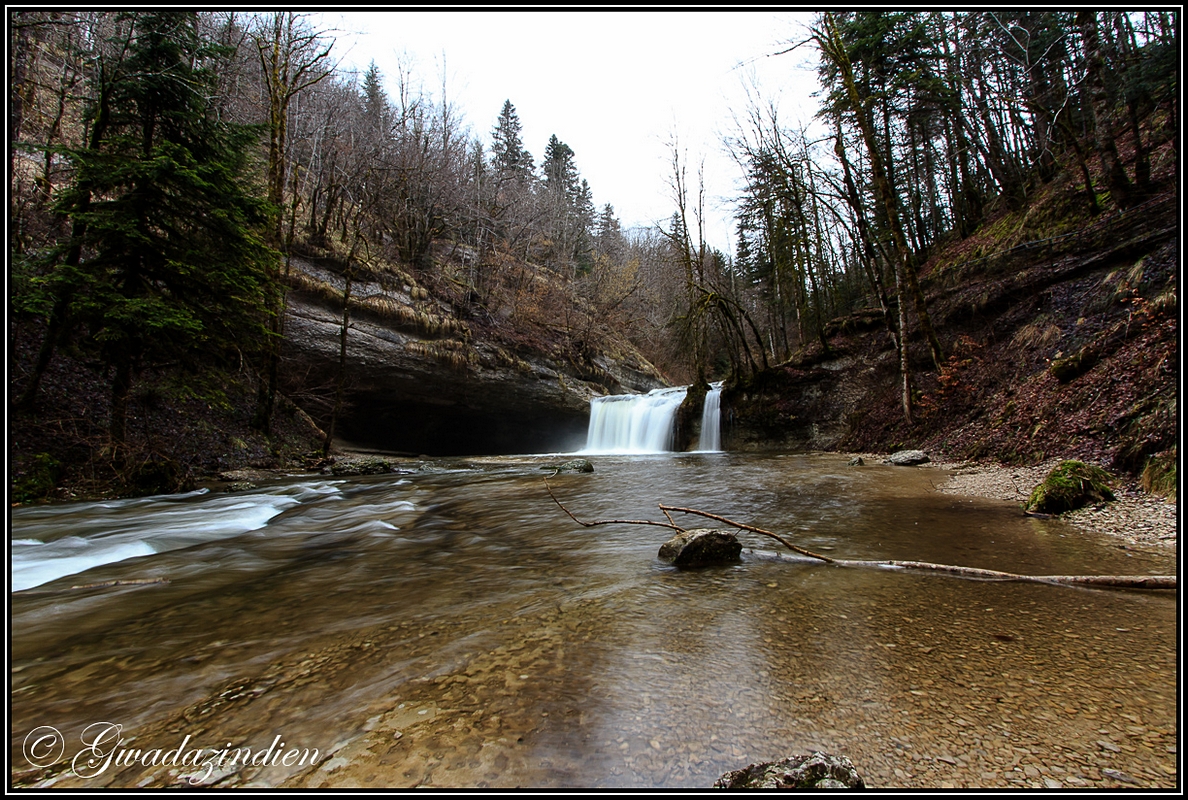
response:
<svg viewBox="0 0 1188 800"><path fill-rule="evenodd" d="M646 395L613 395L590 401L584 453L666 453L672 422L688 386Z"/></svg>

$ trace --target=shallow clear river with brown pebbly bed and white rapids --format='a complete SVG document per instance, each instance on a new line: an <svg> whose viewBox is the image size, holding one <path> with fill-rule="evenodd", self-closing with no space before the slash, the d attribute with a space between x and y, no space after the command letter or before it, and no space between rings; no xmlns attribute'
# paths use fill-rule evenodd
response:
<svg viewBox="0 0 1188 800"><path fill-rule="evenodd" d="M557 509L563 458L13 510L14 783L696 788L828 750L874 787L1177 786L1174 593L680 572L663 529ZM937 470L590 460L550 478L582 518L666 503L841 559L1176 573Z"/></svg>

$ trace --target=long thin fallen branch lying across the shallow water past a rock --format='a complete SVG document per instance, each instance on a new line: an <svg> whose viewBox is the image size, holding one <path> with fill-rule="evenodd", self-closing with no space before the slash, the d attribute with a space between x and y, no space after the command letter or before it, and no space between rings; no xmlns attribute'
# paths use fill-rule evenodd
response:
<svg viewBox="0 0 1188 800"><path fill-rule="evenodd" d="M796 547L786 538L778 534L773 534L770 530L764 530L763 528L756 528L754 525L748 525L742 522L735 522L727 517L719 516L716 514L710 514L708 511L700 511L697 509L685 509L677 505L664 505L658 504L659 510L668 518L668 522L656 522L652 519L595 519L595 521L583 521L579 519L573 511L567 509L557 496L552 493L552 486L549 481L544 481L545 489L549 490L549 497L552 502L557 504L562 511L564 511L570 519L582 525L583 528L593 528L595 525L612 525L612 524L626 524L626 525L657 525L659 528L669 528L677 533L684 533L685 529L676 524L672 519L674 514L688 514L699 517L706 517L707 519L715 519L722 522L727 525L737 528L738 530L747 530L752 534L758 534L760 536L766 536L772 538L784 547L807 556L808 560L817 560L823 563L828 563L835 567L866 567L876 569L921 569L927 572L936 572L947 575L954 575L956 578L968 578L973 580L1015 580L1025 581L1031 584L1054 584L1056 586L1094 586L1099 588L1161 588L1161 590L1175 590L1176 588L1176 577L1175 575L1017 575L1012 572L999 572L997 569L979 569L977 567L958 567L948 563L931 563L929 561L864 561L855 559L830 559L827 555L821 555L820 553L813 553L811 550L805 550L804 548ZM771 554L776 558L788 559L788 556L782 556L778 553ZM804 559L788 559L795 560L797 562L804 562Z"/></svg>

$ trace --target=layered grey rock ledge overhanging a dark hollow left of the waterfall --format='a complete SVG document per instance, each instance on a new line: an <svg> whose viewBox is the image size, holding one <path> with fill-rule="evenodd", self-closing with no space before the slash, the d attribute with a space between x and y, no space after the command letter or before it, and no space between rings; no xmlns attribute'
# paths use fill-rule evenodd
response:
<svg viewBox="0 0 1188 800"><path fill-rule="evenodd" d="M284 371L296 378L286 390L298 402L310 397L303 405L324 426L345 281L309 260L295 259L293 267L309 279L289 295ZM343 445L429 455L568 452L586 443L592 397L664 385L630 352L595 355L581 365L583 379L555 355L472 339L447 308L415 301L399 285L355 281L352 298L336 429Z"/></svg>

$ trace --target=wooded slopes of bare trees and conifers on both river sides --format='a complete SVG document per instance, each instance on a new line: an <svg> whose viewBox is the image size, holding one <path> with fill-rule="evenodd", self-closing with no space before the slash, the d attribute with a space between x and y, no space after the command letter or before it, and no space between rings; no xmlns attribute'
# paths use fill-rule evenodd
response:
<svg viewBox="0 0 1188 800"><path fill-rule="evenodd" d="M727 448L1176 461L1175 12L816 15L814 124L756 97L725 143L732 253L676 147L626 229L564 132L475 132L310 17L8 21L17 502L558 449L715 379Z"/></svg>

